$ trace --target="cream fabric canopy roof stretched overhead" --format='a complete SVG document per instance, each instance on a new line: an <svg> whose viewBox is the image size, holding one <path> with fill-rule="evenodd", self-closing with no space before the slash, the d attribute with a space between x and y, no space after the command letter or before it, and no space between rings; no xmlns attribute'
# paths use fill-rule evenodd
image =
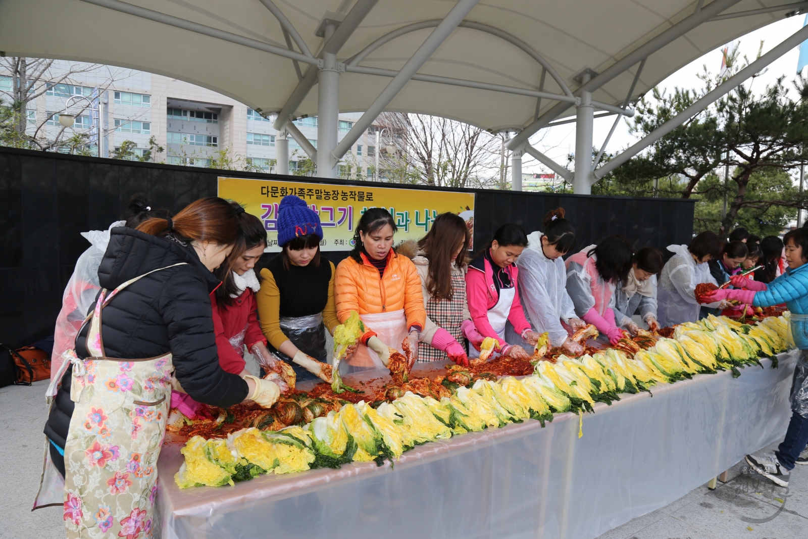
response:
<svg viewBox="0 0 808 539"><path fill-rule="evenodd" d="M130 2L2 0L0 52L6 56L51 57L143 69L207 87L268 113L284 107L298 86L299 78L291 59L261 48L278 52L288 49L287 43L298 41L295 50L301 60L299 68L305 74L306 69L317 69L313 63L324 43L324 18L340 20L350 14L343 26L350 27L350 21L358 23L353 32L344 32L347 36L343 38L347 39L337 53L338 61L347 64L351 57L389 32L434 20L431 25L423 23L421 29L381 44L369 51L356 67L348 65L346 72L340 74L339 109L356 112L364 111L377 99L391 76L402 69L456 3L453 0L275 0L274 3L269 0L140 0L135 6L133 0ZM509 89L492 91L410 80L385 110L446 116L492 131L524 128L537 118L537 96L515 92L540 90L543 67L537 58L543 58L545 65L554 70L562 82L559 84L552 71L548 71L544 91L571 95L570 89L574 91L579 87L576 74L585 69L591 69L593 76L601 74L621 59L633 58L634 54L637 60L626 66L628 69L617 69L620 65L612 68L617 74L592 93L592 99L621 106L639 61L644 57L638 55L638 51L650 54L645 55L647 61L633 98L702 54L781 19L787 11L808 6L808 2L784 6L785 2L787 0L483 0L465 15L461 27L452 31L418 69L418 74L502 85ZM133 11L133 6L134 10L146 10L134 15L127 13ZM784 7L760 13L772 6ZM289 40L271 10L279 13L280 19L288 19ZM726 19L718 15L720 20L709 20L717 14L726 16L743 11L759 13ZM701 19L706 19L704 22L694 22L699 14L704 14L701 15ZM682 33L678 29L687 24L693 26L692 29L675 37ZM321 28L320 36L315 35L318 28ZM299 36L295 35L296 31ZM220 36L213 36L217 32ZM657 50L654 40L666 41L663 38L667 35L675 39L668 39L669 42ZM308 50L301 51L300 44L305 44ZM314 61L306 63L306 58ZM362 66L390 71L387 76L354 72ZM294 116L316 116L317 91L301 93L305 93L305 98L290 112ZM556 103L558 101L542 99L539 113Z"/></svg>

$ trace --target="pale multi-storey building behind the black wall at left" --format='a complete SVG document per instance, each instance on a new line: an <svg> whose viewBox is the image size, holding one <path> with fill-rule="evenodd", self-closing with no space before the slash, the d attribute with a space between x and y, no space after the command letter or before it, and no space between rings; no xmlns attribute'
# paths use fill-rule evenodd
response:
<svg viewBox="0 0 808 539"><path fill-rule="evenodd" d="M50 78L61 78L60 69L70 69L57 61ZM61 73L65 73L62 71ZM0 91L11 90L9 74L0 72ZM100 89L100 90L99 90ZM100 94L100 97L99 97ZM243 103L201 86L175 78L133 69L107 68L72 74L69 79L48 83L44 95L28 103L28 131L47 138L57 137L63 127L59 112L75 116L73 126L64 128L60 140L74 133L86 133L92 154L98 154L99 101L103 133L101 155L111 157L125 141L133 154L141 158L149 149L160 146L150 160L185 166L210 166L223 152L237 162L238 168L274 172L276 160L275 116L263 118ZM82 109L86 109L83 110ZM361 113L339 116L339 139L350 131ZM301 133L317 147L317 117L295 121ZM375 127L351 148L343 159L341 175L372 177L375 170ZM291 136L289 169L307 158ZM59 151L70 151L65 145Z"/></svg>

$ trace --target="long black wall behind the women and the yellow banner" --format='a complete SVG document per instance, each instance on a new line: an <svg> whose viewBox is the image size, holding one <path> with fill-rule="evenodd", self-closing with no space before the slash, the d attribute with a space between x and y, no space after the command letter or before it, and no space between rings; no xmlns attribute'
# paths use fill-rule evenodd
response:
<svg viewBox="0 0 808 539"><path fill-rule="evenodd" d="M0 148L0 343L18 347L53 334L62 292L76 259L89 246L79 233L107 229L123 217L136 192L145 192L155 207L177 212L200 197L216 196L221 175L301 180ZM522 225L528 233L541 229L545 213L559 206L575 225L579 248L609 234L625 234L635 247L655 246L664 252L671 243L688 243L692 237L692 200L458 191L477 194L476 246L507 222ZM345 253L328 255L337 263Z"/></svg>

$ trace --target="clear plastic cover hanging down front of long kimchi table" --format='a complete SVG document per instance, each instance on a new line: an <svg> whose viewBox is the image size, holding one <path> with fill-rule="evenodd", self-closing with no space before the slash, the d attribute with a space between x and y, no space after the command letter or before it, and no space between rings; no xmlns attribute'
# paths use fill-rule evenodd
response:
<svg viewBox="0 0 808 539"><path fill-rule="evenodd" d="M158 462L163 539L586 539L664 507L783 436L795 354L416 447L391 466L268 474L180 491L180 444Z"/></svg>

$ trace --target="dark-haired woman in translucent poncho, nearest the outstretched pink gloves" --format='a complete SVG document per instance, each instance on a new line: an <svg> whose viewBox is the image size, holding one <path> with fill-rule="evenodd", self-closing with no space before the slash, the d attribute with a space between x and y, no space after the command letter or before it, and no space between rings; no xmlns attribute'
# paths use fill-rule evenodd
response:
<svg viewBox="0 0 808 539"><path fill-rule="evenodd" d="M669 245L675 255L659 276L659 324L663 327L696 322L701 305L696 301L696 284L718 283L709 272L708 262L721 255L723 242L709 230L693 238L690 245ZM726 303L726 301L724 302ZM724 307L711 303L708 307Z"/></svg>

